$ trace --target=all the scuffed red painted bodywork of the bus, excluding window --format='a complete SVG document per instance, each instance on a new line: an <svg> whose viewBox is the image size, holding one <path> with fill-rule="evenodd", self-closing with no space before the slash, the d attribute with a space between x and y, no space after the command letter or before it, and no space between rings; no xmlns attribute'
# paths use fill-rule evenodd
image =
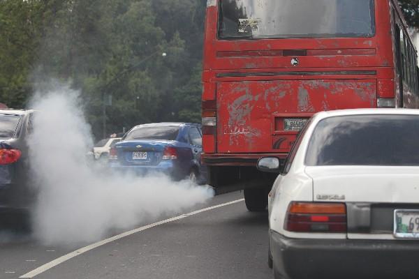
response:
<svg viewBox="0 0 419 279"><path fill-rule="evenodd" d="M216 134L204 136L203 158L283 157L297 133L281 130L284 117L376 107L377 98L397 98L395 3L375 1L372 38L219 40L218 6L207 7L203 100L216 100L217 120ZM304 55L286 55L292 50ZM405 106L419 106L418 96L405 94Z"/></svg>

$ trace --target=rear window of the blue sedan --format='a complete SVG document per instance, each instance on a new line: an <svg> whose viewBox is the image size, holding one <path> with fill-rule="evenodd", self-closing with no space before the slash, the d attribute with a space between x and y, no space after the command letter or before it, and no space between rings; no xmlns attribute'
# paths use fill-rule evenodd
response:
<svg viewBox="0 0 419 279"><path fill-rule="evenodd" d="M133 128L124 140L176 140L179 126L139 126Z"/></svg>

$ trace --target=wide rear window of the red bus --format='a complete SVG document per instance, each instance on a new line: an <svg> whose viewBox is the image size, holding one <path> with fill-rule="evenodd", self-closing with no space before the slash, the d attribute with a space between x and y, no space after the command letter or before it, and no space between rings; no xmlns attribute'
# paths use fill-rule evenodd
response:
<svg viewBox="0 0 419 279"><path fill-rule="evenodd" d="M372 37L374 0L220 0L219 38Z"/></svg>

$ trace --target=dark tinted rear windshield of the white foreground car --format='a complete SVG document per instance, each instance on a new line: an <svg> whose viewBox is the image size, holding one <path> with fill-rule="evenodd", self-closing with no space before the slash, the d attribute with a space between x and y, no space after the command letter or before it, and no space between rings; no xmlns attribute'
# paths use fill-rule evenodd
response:
<svg viewBox="0 0 419 279"><path fill-rule="evenodd" d="M311 136L305 164L419 166L419 116L323 119Z"/></svg>

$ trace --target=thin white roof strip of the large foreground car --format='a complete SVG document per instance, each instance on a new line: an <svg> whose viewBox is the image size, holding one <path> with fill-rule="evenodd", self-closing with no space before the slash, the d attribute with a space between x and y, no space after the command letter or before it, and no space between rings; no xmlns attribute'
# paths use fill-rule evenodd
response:
<svg viewBox="0 0 419 279"><path fill-rule="evenodd" d="M414 109L353 109L353 110L330 110L327 112L318 112L315 114L316 119L325 119L334 116L351 116L351 115L418 115L419 110Z"/></svg>

